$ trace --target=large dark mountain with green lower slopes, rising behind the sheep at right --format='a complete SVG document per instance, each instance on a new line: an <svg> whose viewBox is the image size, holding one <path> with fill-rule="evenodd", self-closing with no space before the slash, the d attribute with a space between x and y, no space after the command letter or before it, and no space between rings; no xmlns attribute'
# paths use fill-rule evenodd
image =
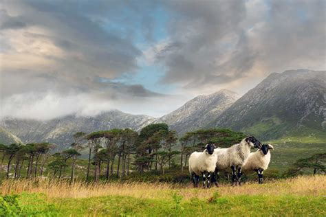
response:
<svg viewBox="0 0 326 217"><path fill-rule="evenodd" d="M326 135L326 71L272 73L210 126L252 133L261 139Z"/></svg>

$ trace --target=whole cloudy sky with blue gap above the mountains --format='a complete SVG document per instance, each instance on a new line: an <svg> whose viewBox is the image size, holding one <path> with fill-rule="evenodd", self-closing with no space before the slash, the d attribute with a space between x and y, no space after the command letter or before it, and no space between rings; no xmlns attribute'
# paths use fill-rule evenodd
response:
<svg viewBox="0 0 326 217"><path fill-rule="evenodd" d="M325 3L0 0L0 118L160 117L270 73L325 70Z"/></svg>

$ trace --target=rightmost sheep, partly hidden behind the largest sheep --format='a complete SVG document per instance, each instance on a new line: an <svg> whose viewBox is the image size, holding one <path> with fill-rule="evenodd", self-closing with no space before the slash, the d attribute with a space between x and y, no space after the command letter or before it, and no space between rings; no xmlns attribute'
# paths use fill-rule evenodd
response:
<svg viewBox="0 0 326 217"><path fill-rule="evenodd" d="M244 173L251 171L257 172L259 184L263 183L263 171L267 170L270 164L270 151L268 151L270 149L274 149L274 147L268 144L261 146L256 152L251 152L242 166Z"/></svg>

